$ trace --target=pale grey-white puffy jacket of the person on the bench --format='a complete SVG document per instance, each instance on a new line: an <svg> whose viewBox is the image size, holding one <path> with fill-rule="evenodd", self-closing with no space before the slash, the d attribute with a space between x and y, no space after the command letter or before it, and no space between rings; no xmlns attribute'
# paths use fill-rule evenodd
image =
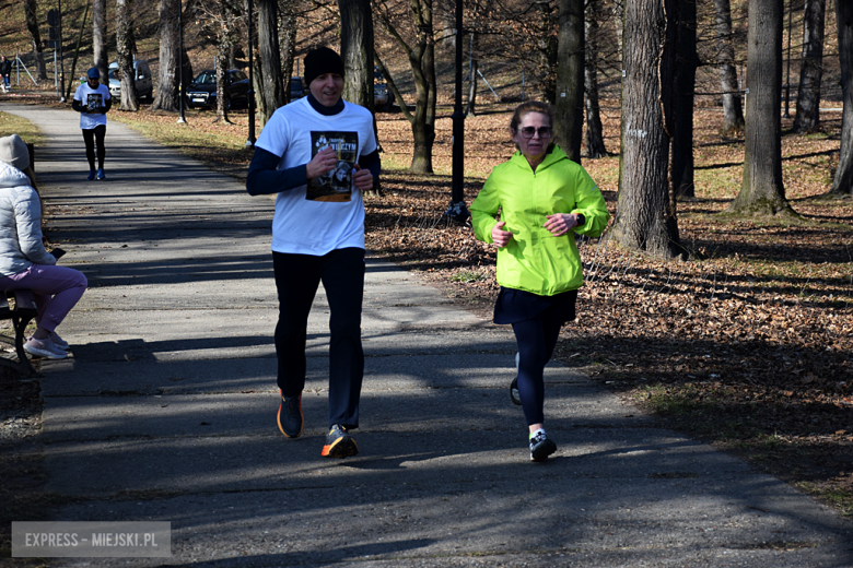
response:
<svg viewBox="0 0 853 568"><path fill-rule="evenodd" d="M0 276L56 264L42 242L42 202L30 178L0 162Z"/></svg>

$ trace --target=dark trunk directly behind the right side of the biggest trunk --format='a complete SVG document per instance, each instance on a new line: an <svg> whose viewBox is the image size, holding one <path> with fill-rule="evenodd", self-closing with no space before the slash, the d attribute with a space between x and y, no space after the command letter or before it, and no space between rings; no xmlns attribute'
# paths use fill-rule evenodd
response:
<svg viewBox="0 0 853 568"><path fill-rule="evenodd" d="M676 198L692 198L693 188L693 104L696 70L699 67L696 38L696 2L680 0L676 22L676 66L674 81L673 144L669 188Z"/></svg>

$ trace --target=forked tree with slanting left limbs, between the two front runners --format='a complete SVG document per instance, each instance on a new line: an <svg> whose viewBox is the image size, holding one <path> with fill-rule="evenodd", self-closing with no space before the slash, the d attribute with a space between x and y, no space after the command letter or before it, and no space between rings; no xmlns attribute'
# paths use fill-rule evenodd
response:
<svg viewBox="0 0 853 568"><path fill-rule="evenodd" d="M392 22L392 13L384 0L376 0L376 14L383 27L396 40L409 59L414 79L414 114L409 111L406 102L394 84L392 75L375 55L375 63L388 80L388 86L397 98L404 116L411 125L414 147L410 170L416 174L432 174L432 146L435 143L435 37L433 35L432 0L411 0L411 24L414 39L409 45L397 26ZM461 38L457 38L461 40Z"/></svg>

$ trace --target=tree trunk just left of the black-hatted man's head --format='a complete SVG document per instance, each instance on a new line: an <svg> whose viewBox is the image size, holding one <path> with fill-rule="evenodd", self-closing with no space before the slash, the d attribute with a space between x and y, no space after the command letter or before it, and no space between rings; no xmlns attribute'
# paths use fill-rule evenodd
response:
<svg viewBox="0 0 853 568"><path fill-rule="evenodd" d="M252 0L249 0L252 1ZM281 58L279 49L279 14L276 0L258 0L258 67L260 73L255 98L258 102L260 123L267 120L280 106L287 104L284 96L284 80L281 75Z"/></svg>

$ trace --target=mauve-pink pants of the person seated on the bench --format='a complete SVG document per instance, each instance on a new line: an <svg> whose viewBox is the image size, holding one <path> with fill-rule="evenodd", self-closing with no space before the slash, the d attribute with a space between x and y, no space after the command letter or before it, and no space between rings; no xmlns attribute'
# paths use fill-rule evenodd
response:
<svg viewBox="0 0 853 568"><path fill-rule="evenodd" d="M54 331L86 291L85 275L66 267L33 264L23 272L0 276L0 289L32 289L38 308L36 326Z"/></svg>

